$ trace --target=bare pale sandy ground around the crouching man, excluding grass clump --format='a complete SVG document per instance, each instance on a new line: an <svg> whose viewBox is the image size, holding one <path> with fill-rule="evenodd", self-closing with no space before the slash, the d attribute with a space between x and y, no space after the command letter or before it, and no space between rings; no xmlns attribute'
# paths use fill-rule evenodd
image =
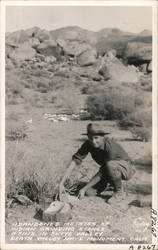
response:
<svg viewBox="0 0 158 250"><path fill-rule="evenodd" d="M31 118L33 115L33 124L30 127L34 129L30 132L30 138L25 142L27 147L34 142L36 145L41 145L43 150L50 149L54 156L54 166L63 165L65 161L71 158L83 139L81 133L86 130L88 121L70 121L68 123L59 122L52 123L44 120L42 112L29 114L26 117L21 114L21 120ZM115 138L129 153L132 159L143 158L150 150L150 143L133 141L132 136L128 131L119 130L115 122L102 122L105 128L111 132L111 137ZM39 136L40 134L40 136ZM41 143L41 144L40 144ZM34 150L37 148L34 148ZM58 156L58 157L57 157ZM88 156L81 168L86 172L82 176L82 181L88 181L97 171L98 166ZM10 241L10 233L12 226L16 222L40 222L39 218L35 217L35 204L28 207L16 205L7 210L6 218L6 240L10 243L150 243L151 242L151 220L150 207L139 207L133 205L132 201L145 197L151 194L151 167L136 166L136 174L134 177L124 183L127 197L121 205L111 206L106 202L105 193L102 197L85 197L72 207L71 219L69 222L95 222L95 227L104 227L102 230L102 240L100 236L91 234L91 230L86 228L88 224L82 226L81 230L85 236L78 240L67 239L61 237L60 242L48 241L46 239L37 240L34 238L29 242L26 240ZM76 169L78 171L78 169ZM53 174L53 170L52 173ZM75 175L75 173L74 173ZM101 224L102 223L102 224ZM75 230L79 230L78 225L75 225ZM38 232L38 230L37 230ZM72 236L74 235L72 234ZM89 238L88 238L89 237ZM88 240L87 240L88 238Z"/></svg>

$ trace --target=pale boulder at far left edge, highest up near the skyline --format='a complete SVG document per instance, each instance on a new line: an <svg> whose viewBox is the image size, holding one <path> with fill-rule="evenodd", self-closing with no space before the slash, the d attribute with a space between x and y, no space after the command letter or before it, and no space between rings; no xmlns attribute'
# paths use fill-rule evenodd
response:
<svg viewBox="0 0 158 250"><path fill-rule="evenodd" d="M19 45L29 40L29 36L24 30L15 31L6 35L6 44Z"/></svg>

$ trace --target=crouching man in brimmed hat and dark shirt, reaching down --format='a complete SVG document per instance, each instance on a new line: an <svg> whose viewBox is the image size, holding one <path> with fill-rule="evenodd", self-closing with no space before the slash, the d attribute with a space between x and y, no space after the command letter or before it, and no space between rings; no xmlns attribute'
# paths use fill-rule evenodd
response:
<svg viewBox="0 0 158 250"><path fill-rule="evenodd" d="M82 160L91 154L93 160L100 165L98 173L79 191L79 197L85 195L98 195L110 184L114 188L112 198L108 200L110 204L121 201L125 198L122 187L122 180L129 180L135 173L134 167L130 163L130 158L126 151L113 139L106 137L106 133L98 123L90 123L87 126L88 139L80 149L72 156L72 160L61 181L60 189L63 189L64 182L72 169Z"/></svg>

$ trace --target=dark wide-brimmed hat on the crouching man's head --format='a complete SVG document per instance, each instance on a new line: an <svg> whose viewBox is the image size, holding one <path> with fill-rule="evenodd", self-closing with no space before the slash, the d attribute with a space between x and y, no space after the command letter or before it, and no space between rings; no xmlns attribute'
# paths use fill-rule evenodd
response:
<svg viewBox="0 0 158 250"><path fill-rule="evenodd" d="M110 133L109 132L105 132L103 130L103 128L101 127L100 124L98 123L89 123L87 125L87 133L84 133L82 135L101 135L101 136L104 136L104 135L109 135Z"/></svg>

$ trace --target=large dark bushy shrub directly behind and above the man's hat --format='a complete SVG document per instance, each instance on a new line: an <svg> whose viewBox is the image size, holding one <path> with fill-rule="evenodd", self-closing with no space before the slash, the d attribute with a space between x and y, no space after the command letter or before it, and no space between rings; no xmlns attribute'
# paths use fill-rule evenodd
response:
<svg viewBox="0 0 158 250"><path fill-rule="evenodd" d="M109 88L89 96L87 108L92 120L121 120L135 110L135 101L134 95Z"/></svg>

